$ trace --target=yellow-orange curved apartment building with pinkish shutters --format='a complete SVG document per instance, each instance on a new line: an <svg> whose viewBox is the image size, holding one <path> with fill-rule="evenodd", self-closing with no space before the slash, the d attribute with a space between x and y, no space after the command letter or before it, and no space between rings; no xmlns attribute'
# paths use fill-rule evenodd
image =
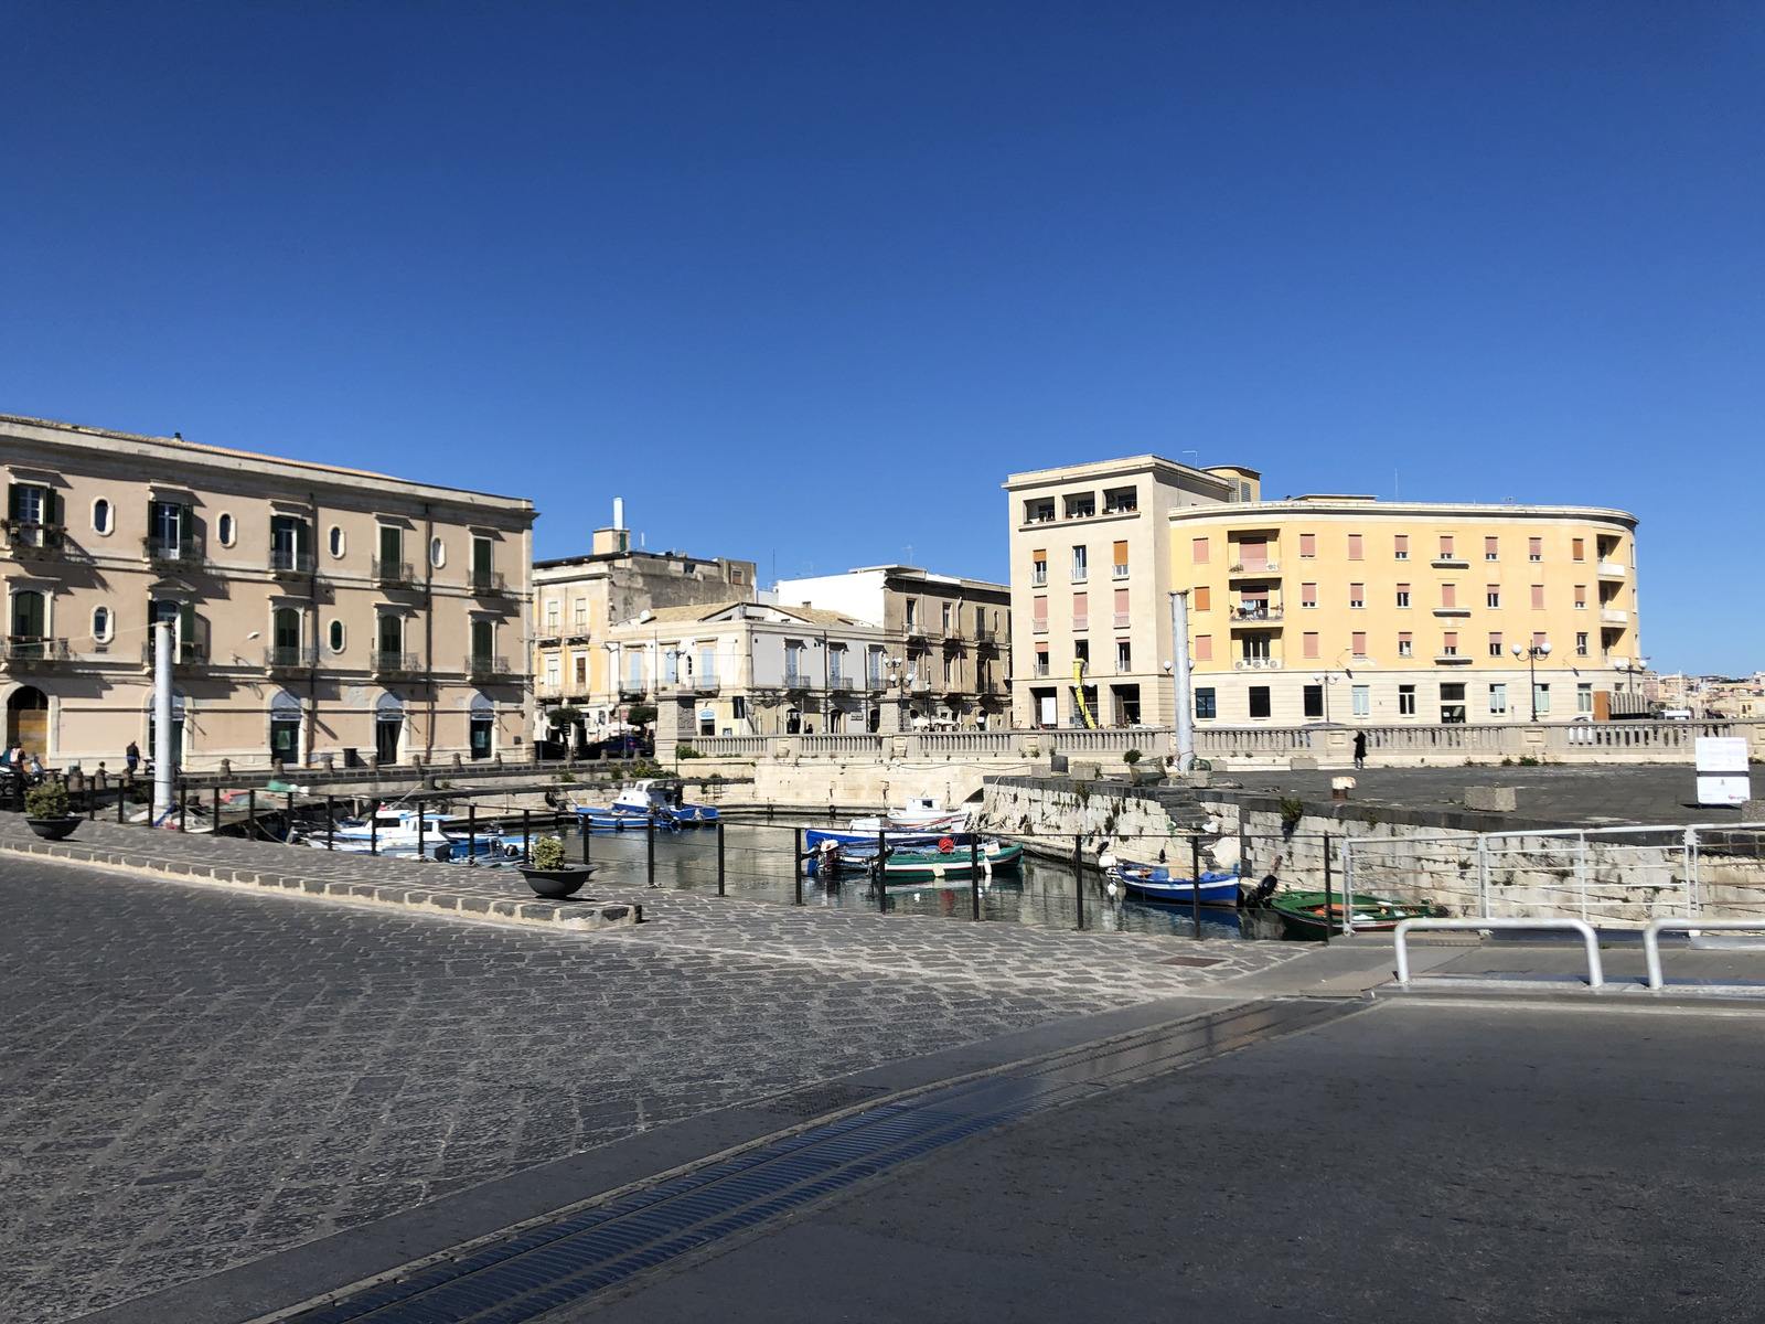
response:
<svg viewBox="0 0 1765 1324"><path fill-rule="evenodd" d="M1167 528L1202 724L1594 720L1633 687L1647 708L1622 510L1301 496Z"/></svg>

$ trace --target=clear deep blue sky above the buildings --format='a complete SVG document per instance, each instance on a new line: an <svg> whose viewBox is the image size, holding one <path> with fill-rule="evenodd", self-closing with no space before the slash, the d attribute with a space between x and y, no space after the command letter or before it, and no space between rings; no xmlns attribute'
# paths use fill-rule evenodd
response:
<svg viewBox="0 0 1765 1324"><path fill-rule="evenodd" d="M1015 470L1634 510L1765 666L1758 4L0 0L0 411L1003 577ZM1193 457L1184 452L1197 452ZM1739 611L1737 611L1739 607Z"/></svg>

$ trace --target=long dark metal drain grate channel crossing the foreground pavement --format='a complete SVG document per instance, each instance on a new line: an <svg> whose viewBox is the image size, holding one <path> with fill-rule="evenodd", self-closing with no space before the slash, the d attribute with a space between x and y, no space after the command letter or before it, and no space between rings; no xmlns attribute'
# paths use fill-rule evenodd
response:
<svg viewBox="0 0 1765 1324"><path fill-rule="evenodd" d="M1359 1010L1262 1001L897 1098L302 1312L289 1324L519 1324L1036 1112Z"/></svg>

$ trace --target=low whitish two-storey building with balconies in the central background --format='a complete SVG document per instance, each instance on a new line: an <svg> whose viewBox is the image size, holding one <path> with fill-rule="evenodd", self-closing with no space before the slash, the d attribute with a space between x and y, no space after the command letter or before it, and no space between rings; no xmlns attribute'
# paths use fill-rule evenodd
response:
<svg viewBox="0 0 1765 1324"><path fill-rule="evenodd" d="M882 630L837 611L660 607L607 632L625 704L655 704L660 743L875 731Z"/></svg>

